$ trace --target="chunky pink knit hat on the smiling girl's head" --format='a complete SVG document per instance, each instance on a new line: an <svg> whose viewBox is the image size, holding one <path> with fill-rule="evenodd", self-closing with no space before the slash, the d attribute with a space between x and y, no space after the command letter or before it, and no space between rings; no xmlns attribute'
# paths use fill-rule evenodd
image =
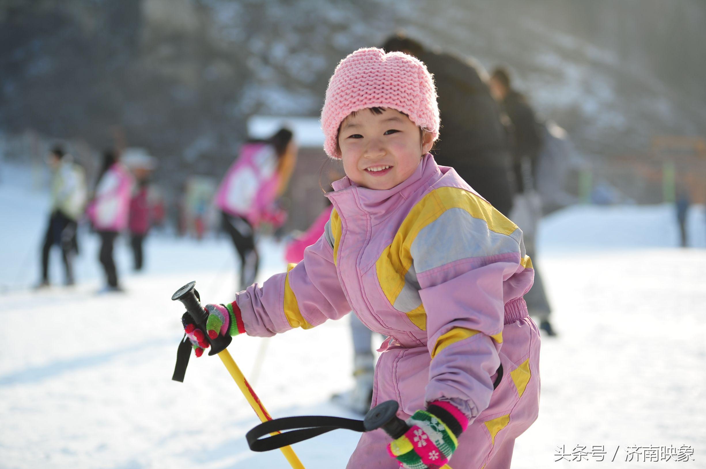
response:
<svg viewBox="0 0 706 469"><path fill-rule="evenodd" d="M371 47L358 49L340 61L328 82L321 110L323 149L332 158L337 150L338 128L353 111L389 107L404 112L433 140L439 134L436 87L423 62L402 52Z"/></svg>

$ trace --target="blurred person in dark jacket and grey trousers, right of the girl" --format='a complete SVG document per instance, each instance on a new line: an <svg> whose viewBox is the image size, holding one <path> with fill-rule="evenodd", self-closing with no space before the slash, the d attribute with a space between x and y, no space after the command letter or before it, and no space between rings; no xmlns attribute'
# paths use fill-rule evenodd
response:
<svg viewBox="0 0 706 469"><path fill-rule="evenodd" d="M537 193L537 163L542 150L542 138L539 125L532 107L524 95L510 83L510 73L502 67L491 73L489 87L493 97L501 104L502 111L508 116L508 140L513 155L513 171L517 193L513 202L510 219L520 226L524 234L525 249L534 266L534 285L525 294L530 315L539 319L539 329L549 336L556 336L551 325L551 307L546 298L542 276L537 267L536 241L537 226L542 219L542 200Z"/></svg>

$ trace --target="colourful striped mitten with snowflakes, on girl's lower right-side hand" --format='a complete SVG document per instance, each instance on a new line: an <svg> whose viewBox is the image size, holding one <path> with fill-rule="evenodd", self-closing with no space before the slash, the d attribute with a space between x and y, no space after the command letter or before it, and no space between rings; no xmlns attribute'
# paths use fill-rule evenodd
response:
<svg viewBox="0 0 706 469"><path fill-rule="evenodd" d="M434 401L407 420L409 430L388 445L400 468L436 469L448 463L468 419L446 401Z"/></svg>

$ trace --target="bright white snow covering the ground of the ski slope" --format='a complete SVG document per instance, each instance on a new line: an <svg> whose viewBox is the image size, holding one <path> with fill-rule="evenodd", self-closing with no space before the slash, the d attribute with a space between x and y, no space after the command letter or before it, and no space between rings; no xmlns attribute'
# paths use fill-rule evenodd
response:
<svg viewBox="0 0 706 469"><path fill-rule="evenodd" d="M27 172L4 168L0 468L289 467L279 451L249 451L244 434L258 420L220 360L192 358L185 382L170 380L182 312L170 297L196 280L206 301L228 300L236 279L227 240L153 236L141 274L119 243L127 293L99 295L97 240L81 233L78 286L37 293L28 286L38 277L48 196L31 187ZM561 335L542 343L542 408L517 440L513 468L706 468L702 207L689 229L697 247L675 248L669 206L573 207L544 220L536 261ZM284 263L282 246L262 246L265 279ZM58 252L52 263L60 284ZM229 350L275 418L355 417L329 403L352 384L347 319L238 337ZM345 468L357 439L337 430L294 450L307 469ZM603 446L605 461L597 453L566 461L577 445ZM692 461L636 461L636 446L644 454L670 445L690 446Z"/></svg>

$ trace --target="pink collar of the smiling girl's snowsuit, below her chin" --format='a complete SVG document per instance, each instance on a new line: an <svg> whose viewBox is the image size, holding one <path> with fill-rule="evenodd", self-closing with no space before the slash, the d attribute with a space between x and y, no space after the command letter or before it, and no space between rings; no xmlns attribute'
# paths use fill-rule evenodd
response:
<svg viewBox="0 0 706 469"><path fill-rule="evenodd" d="M349 210L362 210L372 216L382 215L393 211L407 200L410 194L432 178L438 179L439 177L441 177L441 170L431 153L427 153L421 158L412 176L409 176L405 181L391 189L376 190L364 188L346 176L331 184L333 192L327 193L326 197L335 202L339 212L343 212L341 213L342 216L350 213ZM348 194L354 194L354 197L350 197Z"/></svg>

